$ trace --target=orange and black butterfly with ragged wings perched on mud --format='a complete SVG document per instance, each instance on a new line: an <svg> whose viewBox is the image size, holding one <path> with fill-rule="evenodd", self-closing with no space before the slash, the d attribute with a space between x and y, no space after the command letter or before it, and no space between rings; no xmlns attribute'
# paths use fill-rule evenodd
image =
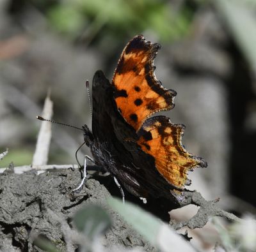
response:
<svg viewBox="0 0 256 252"><path fill-rule="evenodd" d="M184 149L184 125L152 114L174 107L176 92L154 75L160 45L134 36L125 46L113 79L96 71L92 86L92 130L84 142L95 165L107 170L132 195L165 198L177 204L191 181L188 171L207 167Z"/></svg>

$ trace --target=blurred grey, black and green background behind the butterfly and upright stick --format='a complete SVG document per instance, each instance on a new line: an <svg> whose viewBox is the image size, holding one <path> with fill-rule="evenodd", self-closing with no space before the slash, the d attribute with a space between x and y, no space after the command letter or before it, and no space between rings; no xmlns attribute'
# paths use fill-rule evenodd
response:
<svg viewBox="0 0 256 252"><path fill-rule="evenodd" d="M255 0L1 0L0 167L31 163L49 90L54 120L90 126L84 83L99 69L111 80L136 34L162 45L156 77L177 97L161 114L186 125L183 144L208 163L189 174L193 188L255 213ZM49 164L76 163L81 143L52 124Z"/></svg>

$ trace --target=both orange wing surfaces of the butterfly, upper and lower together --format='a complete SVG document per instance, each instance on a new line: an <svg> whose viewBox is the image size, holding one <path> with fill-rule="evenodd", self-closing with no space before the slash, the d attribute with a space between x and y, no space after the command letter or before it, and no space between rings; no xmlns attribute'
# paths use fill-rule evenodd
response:
<svg viewBox="0 0 256 252"><path fill-rule="evenodd" d="M154 75L153 61L159 48L143 36L135 36L122 52L112 84L118 110L138 133L137 144L154 157L156 169L164 179L182 190L190 184L188 171L207 167L207 163L184 149L184 125L172 124L164 116L147 119L155 112L174 107L176 92L164 89Z"/></svg>

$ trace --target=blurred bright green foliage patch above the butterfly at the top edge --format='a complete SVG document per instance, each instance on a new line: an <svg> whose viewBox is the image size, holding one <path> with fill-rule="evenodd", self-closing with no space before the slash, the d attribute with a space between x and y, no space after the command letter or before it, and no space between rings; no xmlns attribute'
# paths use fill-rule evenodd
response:
<svg viewBox="0 0 256 252"><path fill-rule="evenodd" d="M98 33L116 38L151 31L170 41L188 33L194 10L183 3L172 11L172 4L162 0L73 0L58 1L47 13L51 27L67 35L85 31L83 36L92 40Z"/></svg>

